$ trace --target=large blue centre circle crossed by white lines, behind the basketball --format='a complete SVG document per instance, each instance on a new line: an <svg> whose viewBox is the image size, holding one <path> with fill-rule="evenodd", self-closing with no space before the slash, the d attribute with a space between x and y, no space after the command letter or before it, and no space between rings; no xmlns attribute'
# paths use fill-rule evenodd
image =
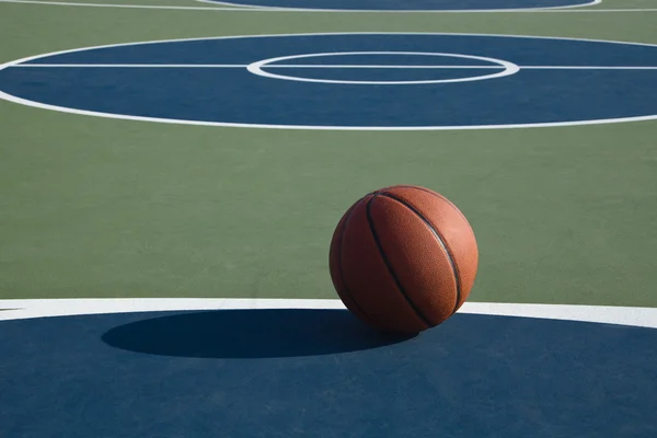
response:
<svg viewBox="0 0 657 438"><path fill-rule="evenodd" d="M657 46L462 34L218 37L3 66L0 97L249 127L453 129L657 118Z"/></svg>

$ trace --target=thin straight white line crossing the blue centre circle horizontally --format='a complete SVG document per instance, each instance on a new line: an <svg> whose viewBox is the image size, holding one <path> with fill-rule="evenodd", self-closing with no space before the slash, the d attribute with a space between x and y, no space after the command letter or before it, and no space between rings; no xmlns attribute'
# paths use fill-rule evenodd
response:
<svg viewBox="0 0 657 438"><path fill-rule="evenodd" d="M8 68L246 68L246 64L16 64ZM518 66L521 70L657 70L645 66ZM266 65L262 68L304 69L504 69L504 66L394 66L394 65Z"/></svg>

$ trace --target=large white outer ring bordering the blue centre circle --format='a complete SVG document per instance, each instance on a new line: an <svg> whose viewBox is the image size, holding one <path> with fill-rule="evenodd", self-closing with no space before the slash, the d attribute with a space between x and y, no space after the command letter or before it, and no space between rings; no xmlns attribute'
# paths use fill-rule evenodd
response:
<svg viewBox="0 0 657 438"><path fill-rule="evenodd" d="M2 1L2 0L0 0ZM557 41L574 41L574 42L590 42L590 43L607 43L607 44L620 44L631 46L643 46L643 47L657 47L656 44L646 43L633 43L633 42L618 42L618 41L606 41L606 39L591 39L591 38L568 38L557 36L531 36L531 35L505 35L505 34L470 34L470 33L440 33L440 32L333 32L333 33L299 33L299 34L269 34L269 35L229 35L229 36L214 36L214 37L195 37L195 38L174 38L174 39L159 39L159 41L147 41L137 43L120 43L120 44L107 44L102 46L81 47L68 50L51 51L47 54L28 56L21 59L15 59L0 65L0 70L9 67L16 66L19 64L32 61L35 59L46 58L55 55L73 54L78 51L87 51L99 48L110 47L127 47L138 46L148 44L164 44L164 43L180 43L180 42L192 42L192 41L211 41L211 39L239 39L239 38L276 38L287 36L326 36L326 35L461 35L461 36L488 36L494 38L532 38L532 39L557 39ZM223 122L199 122L199 120L186 120L175 118L161 118L161 117L145 117L145 116L130 116L124 114L111 114L87 110L76 110L65 106L49 105L41 102L30 101L26 99L18 97L9 93L0 91L0 99L9 102L33 106L42 110L51 110L62 113L116 118L124 120L136 120L136 122L155 122L166 124L181 124L181 125L195 125L195 126L221 126L221 127L235 127L235 128L269 128L269 129L304 129L304 130L381 130L381 131L408 131L408 130L470 130L470 129L510 129L510 128L543 128L543 127L562 127L562 126L586 126L586 125L602 125L612 123L627 123L627 122L645 122L657 119L657 114L650 114L645 116L633 116L633 117L618 117L618 118L602 118L602 119L590 119L590 120L577 120L577 122L554 122L554 123L538 123L538 124L510 124L510 125L471 125L471 126L303 126L303 125L267 125L267 124L241 124L241 123L223 123Z"/></svg>

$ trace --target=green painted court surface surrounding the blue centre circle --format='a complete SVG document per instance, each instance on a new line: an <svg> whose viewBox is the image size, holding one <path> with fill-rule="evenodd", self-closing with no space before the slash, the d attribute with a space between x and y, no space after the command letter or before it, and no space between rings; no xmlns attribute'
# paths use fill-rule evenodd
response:
<svg viewBox="0 0 657 438"><path fill-rule="evenodd" d="M0 62L131 42L328 32L657 44L654 0L499 13L44 3L0 2ZM657 307L657 120L258 129L0 100L0 299L337 298L327 260L338 219L369 191L416 184L453 200L474 229L481 262L470 301Z"/></svg>

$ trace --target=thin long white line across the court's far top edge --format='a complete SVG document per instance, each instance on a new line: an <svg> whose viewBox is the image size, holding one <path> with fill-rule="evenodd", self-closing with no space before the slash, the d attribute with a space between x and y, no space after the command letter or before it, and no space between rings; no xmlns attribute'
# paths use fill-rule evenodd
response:
<svg viewBox="0 0 657 438"><path fill-rule="evenodd" d="M174 10L174 11L223 11L223 12L312 12L309 9L276 9L276 8L210 8L210 7L175 7L175 5L154 5L154 4L115 4L115 3L76 3L68 1L39 1L39 0L0 0L0 3L24 3L24 4L45 4L53 7L85 7L85 8L124 8L124 9L154 9L154 10ZM216 2L212 2L216 3ZM452 10L452 11L351 11L351 10L326 10L324 12L336 13L567 13L567 12L657 12L657 8L643 9L505 9L505 10Z"/></svg>

